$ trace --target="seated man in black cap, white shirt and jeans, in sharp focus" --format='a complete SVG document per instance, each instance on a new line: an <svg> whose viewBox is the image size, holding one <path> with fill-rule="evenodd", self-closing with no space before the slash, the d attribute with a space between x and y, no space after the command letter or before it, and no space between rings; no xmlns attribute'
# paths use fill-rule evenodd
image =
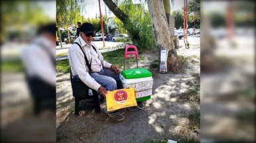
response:
<svg viewBox="0 0 256 143"><path fill-rule="evenodd" d="M117 83L120 82L119 73L121 72L118 67L107 63L103 60L103 56L99 52L97 46L92 43L94 37L94 25L88 22L83 23L80 27L79 37L74 42L81 45L86 58L88 59L89 66L91 65L92 71L89 73L89 67L84 59L84 53L77 44L72 44L68 50L68 59L72 71L72 76L80 78L86 86L105 96L107 91L117 90ZM117 111L107 114L115 121L121 121L124 116Z"/></svg>

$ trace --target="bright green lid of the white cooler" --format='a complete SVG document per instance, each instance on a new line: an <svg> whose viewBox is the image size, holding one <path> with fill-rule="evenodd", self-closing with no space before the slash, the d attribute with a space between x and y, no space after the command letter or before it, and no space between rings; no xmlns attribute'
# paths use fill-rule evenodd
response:
<svg viewBox="0 0 256 143"><path fill-rule="evenodd" d="M147 69L126 69L121 72L125 79L151 77L152 73Z"/></svg>

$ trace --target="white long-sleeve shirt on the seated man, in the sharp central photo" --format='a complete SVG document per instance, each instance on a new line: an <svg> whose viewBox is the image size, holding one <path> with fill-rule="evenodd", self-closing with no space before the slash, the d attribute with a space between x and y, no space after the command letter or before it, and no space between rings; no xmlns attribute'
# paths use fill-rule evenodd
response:
<svg viewBox="0 0 256 143"><path fill-rule="evenodd" d="M103 60L103 56L94 43L92 43L92 45L94 45L97 52L94 50L92 45L88 45L80 36L76 38L74 42L78 42L81 45L88 62L90 63L92 60L92 72L99 72L103 67L110 69L111 64ZM70 49L68 49L68 59L70 62L72 76L78 75L84 84L94 90L98 90L101 85L88 73L89 69L86 64L86 60L84 59L84 53L76 43L72 44Z"/></svg>

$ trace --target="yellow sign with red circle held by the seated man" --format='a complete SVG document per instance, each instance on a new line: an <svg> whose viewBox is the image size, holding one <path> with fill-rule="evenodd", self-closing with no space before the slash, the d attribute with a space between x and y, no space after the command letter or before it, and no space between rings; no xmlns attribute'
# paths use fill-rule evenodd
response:
<svg viewBox="0 0 256 143"><path fill-rule="evenodd" d="M106 95L107 111L137 106L134 88L108 91Z"/></svg>

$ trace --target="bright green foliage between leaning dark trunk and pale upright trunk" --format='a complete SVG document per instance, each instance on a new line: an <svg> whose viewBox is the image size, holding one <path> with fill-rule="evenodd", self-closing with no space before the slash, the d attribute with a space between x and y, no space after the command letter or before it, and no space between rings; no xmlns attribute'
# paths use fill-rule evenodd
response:
<svg viewBox="0 0 256 143"><path fill-rule="evenodd" d="M122 3L120 9L129 15L129 21L123 24L121 20L115 18L119 32L125 33L127 30L131 41L138 49L155 48L155 40L151 27L151 17L149 11L145 11L145 5L134 5L132 1Z"/></svg>

